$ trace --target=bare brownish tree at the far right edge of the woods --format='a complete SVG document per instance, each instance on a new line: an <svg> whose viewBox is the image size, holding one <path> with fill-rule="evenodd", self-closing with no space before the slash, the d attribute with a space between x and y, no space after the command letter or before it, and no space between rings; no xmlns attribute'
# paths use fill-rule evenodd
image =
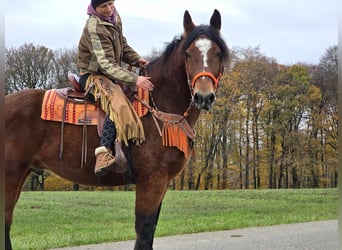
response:
<svg viewBox="0 0 342 250"><path fill-rule="evenodd" d="M318 66L311 67L310 70L315 86L322 93L320 102L312 105L312 110L315 111L313 117L316 118L316 122L312 123L312 137L319 140L319 151L316 152L316 157L320 162L324 186L334 187L337 184L337 46L329 47Z"/></svg>

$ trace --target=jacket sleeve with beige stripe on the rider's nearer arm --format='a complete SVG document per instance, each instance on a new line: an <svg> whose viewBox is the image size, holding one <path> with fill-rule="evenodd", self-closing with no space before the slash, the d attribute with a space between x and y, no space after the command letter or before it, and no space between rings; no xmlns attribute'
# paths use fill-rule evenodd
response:
<svg viewBox="0 0 342 250"><path fill-rule="evenodd" d="M97 32L96 19L90 19L88 32L90 35L91 50L96 57L101 72L114 81L134 85L138 76L122 68L115 61L115 51L113 50L110 37L104 32Z"/></svg>

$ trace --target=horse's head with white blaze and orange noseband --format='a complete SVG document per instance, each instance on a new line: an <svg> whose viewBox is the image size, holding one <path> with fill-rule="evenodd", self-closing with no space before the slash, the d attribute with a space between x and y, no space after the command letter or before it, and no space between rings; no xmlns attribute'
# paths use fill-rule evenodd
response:
<svg viewBox="0 0 342 250"><path fill-rule="evenodd" d="M183 51L193 102L198 109L209 110L228 60L228 48L220 37L221 15L215 10L210 25L195 26L188 11L184 13Z"/></svg>

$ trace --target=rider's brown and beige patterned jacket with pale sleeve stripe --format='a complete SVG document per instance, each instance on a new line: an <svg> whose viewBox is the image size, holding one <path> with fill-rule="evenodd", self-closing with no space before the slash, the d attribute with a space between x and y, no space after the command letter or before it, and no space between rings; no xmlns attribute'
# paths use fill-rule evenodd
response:
<svg viewBox="0 0 342 250"><path fill-rule="evenodd" d="M122 33L122 21L115 25L90 15L78 44L78 67L82 72L104 74L113 81L134 85L137 75L121 67L121 62L135 63L140 58Z"/></svg>

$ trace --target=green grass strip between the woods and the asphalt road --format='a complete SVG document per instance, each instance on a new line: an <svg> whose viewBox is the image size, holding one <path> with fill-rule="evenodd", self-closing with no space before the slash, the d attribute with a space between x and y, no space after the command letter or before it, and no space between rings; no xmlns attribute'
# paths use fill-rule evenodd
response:
<svg viewBox="0 0 342 250"><path fill-rule="evenodd" d="M12 244L49 249L135 239L134 192L23 192ZM337 189L169 191L156 237L337 219Z"/></svg>

